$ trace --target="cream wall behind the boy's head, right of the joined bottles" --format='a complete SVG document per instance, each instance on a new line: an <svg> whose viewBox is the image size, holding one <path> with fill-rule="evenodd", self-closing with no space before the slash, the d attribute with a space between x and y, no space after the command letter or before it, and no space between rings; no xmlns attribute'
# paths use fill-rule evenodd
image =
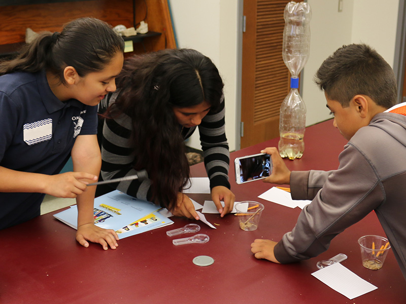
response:
<svg viewBox="0 0 406 304"><path fill-rule="evenodd" d="M399 1L308 0L313 12L309 61L304 68L303 100L307 105L306 124L331 118L325 107L324 93L313 82L321 63L337 48L365 43L375 48L393 67Z"/></svg>

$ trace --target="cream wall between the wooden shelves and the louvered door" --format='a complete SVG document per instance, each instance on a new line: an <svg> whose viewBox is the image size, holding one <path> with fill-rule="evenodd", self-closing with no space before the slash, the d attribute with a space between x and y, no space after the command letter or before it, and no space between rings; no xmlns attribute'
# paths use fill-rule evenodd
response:
<svg viewBox="0 0 406 304"><path fill-rule="evenodd" d="M226 135L235 150L238 2L235 0L169 0L178 48L208 56L220 71L226 102ZM201 149L198 132L187 142Z"/></svg>

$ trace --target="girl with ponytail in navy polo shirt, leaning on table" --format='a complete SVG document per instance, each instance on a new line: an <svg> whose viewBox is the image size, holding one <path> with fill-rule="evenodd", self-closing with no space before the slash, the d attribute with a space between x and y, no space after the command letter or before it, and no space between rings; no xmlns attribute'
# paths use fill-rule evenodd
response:
<svg viewBox="0 0 406 304"><path fill-rule="evenodd" d="M76 198L77 241L116 248L116 233L93 223L86 184L101 163L97 104L116 90L123 50L107 23L80 18L0 63L0 229L40 215L45 194ZM59 174L71 156L74 172Z"/></svg>

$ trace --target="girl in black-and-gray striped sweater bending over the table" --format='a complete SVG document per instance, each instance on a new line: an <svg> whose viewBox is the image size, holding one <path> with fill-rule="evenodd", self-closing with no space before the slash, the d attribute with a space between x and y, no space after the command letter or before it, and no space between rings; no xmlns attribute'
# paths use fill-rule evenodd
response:
<svg viewBox="0 0 406 304"><path fill-rule="evenodd" d="M174 215L198 219L182 193L190 176L184 140L198 127L212 199L221 216L229 213L234 194L228 182L223 82L213 62L190 49L133 56L125 61L117 88L102 103L108 105L101 146L103 179L146 169L147 180L111 185Z"/></svg>

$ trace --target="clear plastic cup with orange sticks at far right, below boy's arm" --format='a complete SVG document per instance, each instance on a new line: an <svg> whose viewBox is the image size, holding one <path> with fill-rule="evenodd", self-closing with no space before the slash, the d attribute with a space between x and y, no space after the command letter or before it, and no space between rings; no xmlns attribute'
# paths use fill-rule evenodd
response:
<svg viewBox="0 0 406 304"><path fill-rule="evenodd" d="M384 265L390 244L387 238L380 236L363 236L358 239L361 249L363 267L370 270L379 270Z"/></svg>

